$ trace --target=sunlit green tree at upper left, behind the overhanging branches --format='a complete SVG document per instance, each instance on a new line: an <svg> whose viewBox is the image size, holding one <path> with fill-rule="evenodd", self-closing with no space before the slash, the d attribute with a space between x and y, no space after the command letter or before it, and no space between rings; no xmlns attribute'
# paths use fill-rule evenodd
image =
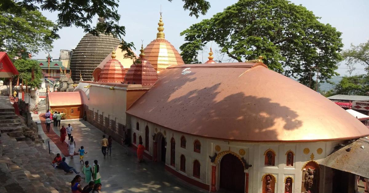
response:
<svg viewBox="0 0 369 193"><path fill-rule="evenodd" d="M38 10L0 10L0 51L7 51L10 58L49 51L54 39L58 38L53 35L55 27Z"/></svg>

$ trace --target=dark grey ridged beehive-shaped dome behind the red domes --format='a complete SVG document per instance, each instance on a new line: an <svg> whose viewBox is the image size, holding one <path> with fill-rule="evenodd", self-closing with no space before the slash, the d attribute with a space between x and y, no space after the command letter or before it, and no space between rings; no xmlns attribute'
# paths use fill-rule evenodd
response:
<svg viewBox="0 0 369 193"><path fill-rule="evenodd" d="M111 35L83 36L70 59L70 69L76 72L72 74L73 81L77 82L80 79L78 72L82 73L83 79L92 80L92 72L96 66L119 44L120 40Z"/></svg>

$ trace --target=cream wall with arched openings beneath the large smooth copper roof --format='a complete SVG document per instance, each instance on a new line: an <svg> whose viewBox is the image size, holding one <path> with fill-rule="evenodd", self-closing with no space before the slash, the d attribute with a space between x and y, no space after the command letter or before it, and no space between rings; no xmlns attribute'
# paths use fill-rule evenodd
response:
<svg viewBox="0 0 369 193"><path fill-rule="evenodd" d="M140 130L135 130L135 123L139 122ZM141 126L142 125L142 126ZM215 139L207 139L200 138L194 135L183 134L177 131L169 130L167 128L163 128L153 123L149 123L145 120L141 120L137 117L132 117L132 134L133 132L137 133L137 143L138 136L142 136L142 140L145 141L145 127L148 125L150 131L150 148L147 152L149 155L153 156L153 147L152 147L152 135L155 133L155 128L157 128L157 132L165 134L166 138L166 165L170 168L175 169L177 172L181 173L184 176L195 179L199 182L206 183L211 187L211 169L212 165L216 166L216 183L215 187L219 189L219 180L220 180L220 161L221 157L219 157L218 162L211 163L209 156L213 156L215 153L220 155L225 155L227 153L236 154L239 158L244 158L248 164L251 164L248 170L245 170L249 175L249 193L262 193L262 177L266 173L272 174L276 178L275 183L275 193L283 193L285 182L284 179L287 177L292 177L292 190L294 193L301 192L302 178L303 178L303 167L304 164L309 161L318 162L320 159L325 158L329 155L335 146L337 146L342 141L331 141L331 142L295 142L295 143L247 143L247 142L233 142L233 141L225 141L225 140L215 140ZM186 138L186 148L180 147L180 138L184 136ZM176 147L175 147L175 166L170 166L170 139L175 139ZM201 152L194 152L193 145L195 140L199 140L201 143ZM217 147L218 146L218 147ZM321 148L321 149L320 149ZM275 166L265 166L265 155L266 150L272 149L275 155ZM293 166L287 166L287 151L292 151L294 154L293 157ZM186 157L186 171L180 171L180 156L184 155ZM197 159L200 162L200 179L193 177L193 161ZM324 192L325 190L330 190L331 187L325 187L326 176L324 176L325 167L321 167L320 170L320 182L319 189L320 192Z"/></svg>

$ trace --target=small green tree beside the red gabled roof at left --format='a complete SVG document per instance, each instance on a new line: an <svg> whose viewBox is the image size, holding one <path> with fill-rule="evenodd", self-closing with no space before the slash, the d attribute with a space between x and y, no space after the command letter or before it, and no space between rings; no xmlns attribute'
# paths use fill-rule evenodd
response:
<svg viewBox="0 0 369 193"><path fill-rule="evenodd" d="M41 78L42 78L42 69L39 66L38 62L35 60L29 59L18 59L14 61L14 66L17 68L19 72L20 82L23 80L24 85L27 84L31 88L40 88L41 87ZM34 80L32 80L32 69L34 69ZM14 82L16 82L18 76L13 78L13 86L15 86Z"/></svg>

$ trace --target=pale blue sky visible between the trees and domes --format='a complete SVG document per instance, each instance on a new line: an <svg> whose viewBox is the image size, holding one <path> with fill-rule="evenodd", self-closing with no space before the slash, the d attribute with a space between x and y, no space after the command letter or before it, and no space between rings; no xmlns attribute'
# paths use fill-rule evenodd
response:
<svg viewBox="0 0 369 193"><path fill-rule="evenodd" d="M120 0L118 13L121 15L120 25L124 25L127 42L134 42L136 53L139 54L141 39L144 47L156 38L159 22L159 12L163 12L165 38L175 46L180 52L179 46L184 43L184 37L180 32L186 30L190 25L199 23L203 19L211 18L214 14L222 12L227 6L237 2L237 0L208 0L211 8L206 15L199 18L190 17L189 11L183 9L181 0ZM358 45L369 39L369 1L368 0L291 0L294 4L302 4L308 10L313 11L317 17L321 17L321 23L329 23L338 31L342 32L342 42L344 49L350 48L350 44ZM49 20L56 21L57 13L42 11ZM92 25L96 25L97 16ZM50 52L53 58L59 58L60 49L75 49L78 42L85 35L82 28L70 27L59 30L60 39L54 41L54 48ZM208 45L210 47L210 45ZM212 46L217 48L216 45ZM214 50L213 50L214 51ZM208 51L203 55L199 54L199 61L207 61ZM46 53L41 51L33 58L43 59ZM217 54L214 59L217 60ZM356 65L357 70L354 74L363 74L363 66ZM336 70L340 75L348 75L347 66L341 62L339 69Z"/></svg>

